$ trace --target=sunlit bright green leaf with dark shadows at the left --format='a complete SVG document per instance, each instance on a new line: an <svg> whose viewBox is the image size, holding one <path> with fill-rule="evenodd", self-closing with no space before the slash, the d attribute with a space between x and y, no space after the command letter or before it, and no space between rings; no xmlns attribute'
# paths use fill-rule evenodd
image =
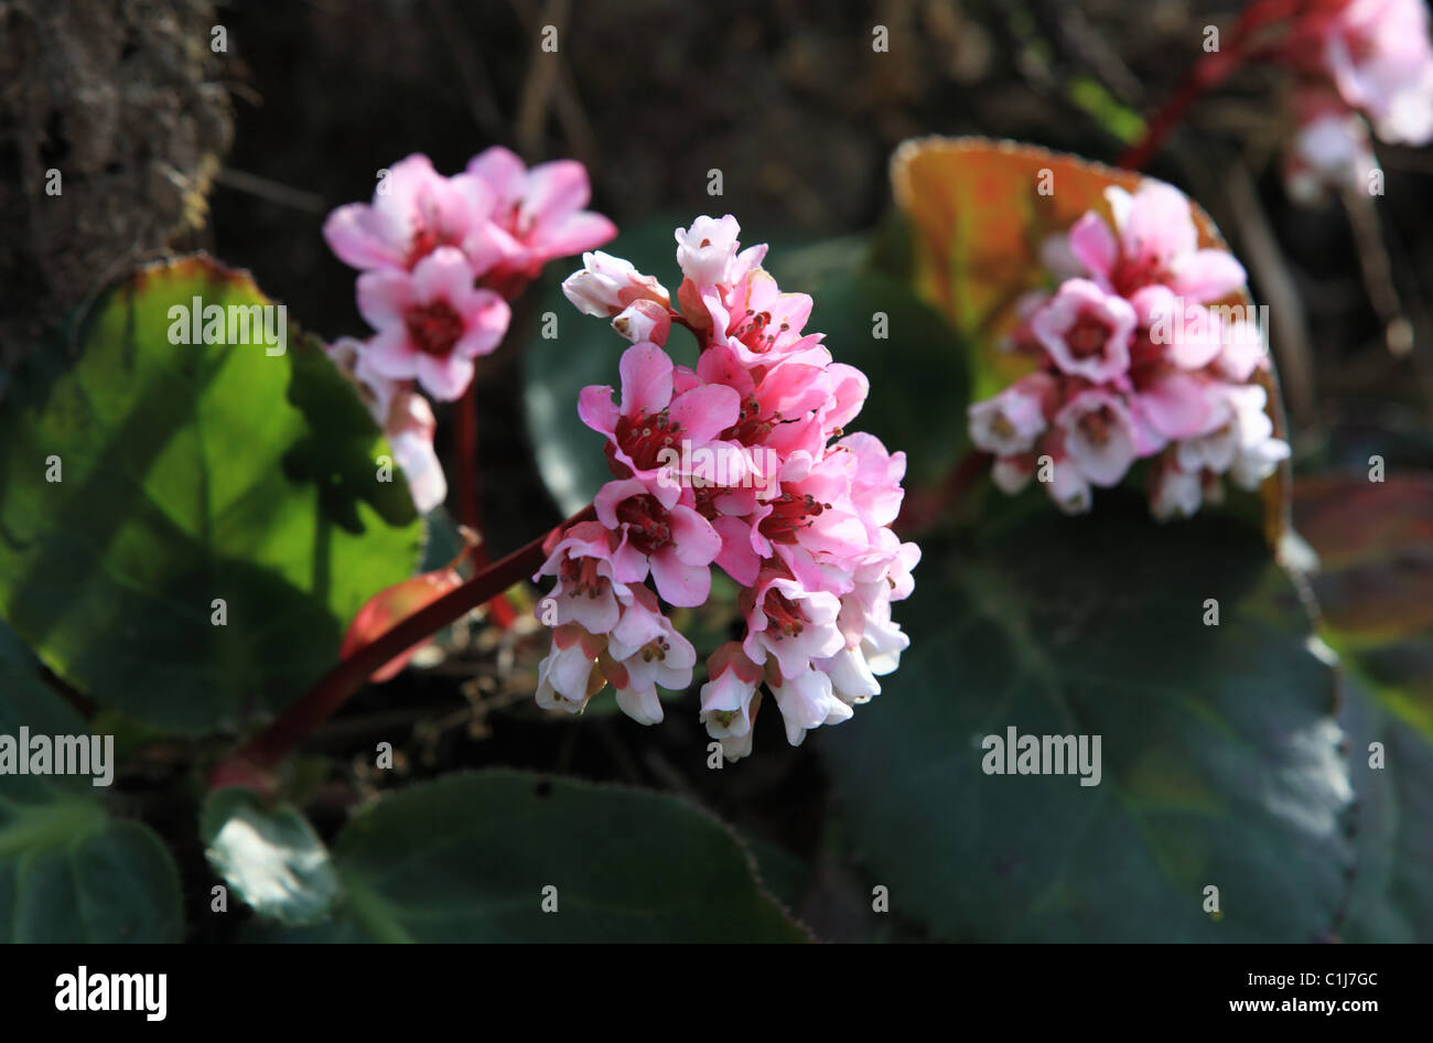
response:
<svg viewBox="0 0 1433 1043"><path fill-rule="evenodd" d="M0 616L97 703L203 732L279 711L335 659L421 524L311 338L173 344L171 308L265 305L203 256L143 269L0 411ZM252 340L252 337L249 338ZM60 481L47 481L59 457ZM226 625L214 625L224 599Z"/></svg>

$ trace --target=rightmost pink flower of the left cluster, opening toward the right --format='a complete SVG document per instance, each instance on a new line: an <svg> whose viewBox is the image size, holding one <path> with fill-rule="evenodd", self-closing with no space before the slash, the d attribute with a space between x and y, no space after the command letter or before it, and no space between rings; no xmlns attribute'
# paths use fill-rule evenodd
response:
<svg viewBox="0 0 1433 1043"><path fill-rule="evenodd" d="M527 169L516 155L494 145L469 160L467 173L493 193L492 222L504 246L490 275L499 289L535 278L555 258L600 246L616 235L610 221L583 209L592 191L586 168L576 160L557 159Z"/></svg>

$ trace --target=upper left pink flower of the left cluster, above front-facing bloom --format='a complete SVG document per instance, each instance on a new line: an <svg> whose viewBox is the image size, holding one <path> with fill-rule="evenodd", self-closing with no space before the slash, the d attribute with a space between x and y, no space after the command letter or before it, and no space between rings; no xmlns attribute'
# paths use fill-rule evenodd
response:
<svg viewBox="0 0 1433 1043"><path fill-rule="evenodd" d="M500 234L489 222L493 193L479 178L444 178L413 155L378 182L373 203L348 203L328 215L324 239L344 264L361 271L408 271L438 246L467 258L470 278L502 258Z"/></svg>

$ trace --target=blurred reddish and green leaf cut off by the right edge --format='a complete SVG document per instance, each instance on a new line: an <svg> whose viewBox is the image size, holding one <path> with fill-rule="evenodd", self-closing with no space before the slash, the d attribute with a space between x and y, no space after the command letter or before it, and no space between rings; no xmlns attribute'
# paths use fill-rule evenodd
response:
<svg viewBox="0 0 1433 1043"><path fill-rule="evenodd" d="M1358 867L1341 934L1433 941L1433 473L1301 480L1294 520L1348 675Z"/></svg>

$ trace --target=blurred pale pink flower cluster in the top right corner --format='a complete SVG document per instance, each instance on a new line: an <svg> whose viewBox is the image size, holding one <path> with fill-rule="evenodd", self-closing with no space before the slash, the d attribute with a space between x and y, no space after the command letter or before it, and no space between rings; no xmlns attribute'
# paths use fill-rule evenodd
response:
<svg viewBox="0 0 1433 1043"><path fill-rule="evenodd" d="M1367 192L1379 168L1369 125L1390 145L1433 140L1427 0L1313 0L1284 46L1300 73L1285 181L1300 199Z"/></svg>

